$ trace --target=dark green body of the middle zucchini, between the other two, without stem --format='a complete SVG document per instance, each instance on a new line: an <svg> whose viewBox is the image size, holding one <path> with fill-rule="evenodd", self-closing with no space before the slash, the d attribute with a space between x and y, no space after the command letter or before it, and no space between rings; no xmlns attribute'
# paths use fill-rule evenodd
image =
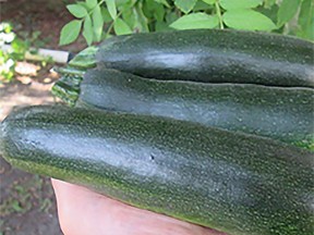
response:
<svg viewBox="0 0 314 235"><path fill-rule="evenodd" d="M145 79L89 70L76 107L197 122L314 151L314 89Z"/></svg>

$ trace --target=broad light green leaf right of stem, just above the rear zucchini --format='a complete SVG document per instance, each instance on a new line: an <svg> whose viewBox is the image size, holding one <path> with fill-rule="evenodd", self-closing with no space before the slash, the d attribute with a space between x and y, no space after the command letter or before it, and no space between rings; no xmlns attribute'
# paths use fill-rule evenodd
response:
<svg viewBox="0 0 314 235"><path fill-rule="evenodd" d="M269 32L276 28L270 18L250 9L227 11L222 18L228 27L235 29Z"/></svg>

